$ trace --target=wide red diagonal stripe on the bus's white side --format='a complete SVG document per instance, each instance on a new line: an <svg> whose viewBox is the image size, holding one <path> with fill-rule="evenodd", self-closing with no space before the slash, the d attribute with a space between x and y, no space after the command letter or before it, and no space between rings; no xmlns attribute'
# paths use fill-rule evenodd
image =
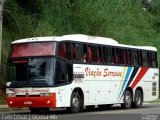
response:
<svg viewBox="0 0 160 120"><path fill-rule="evenodd" d="M142 79L142 77L146 74L146 72L148 71L149 68L141 68L139 74L137 75L135 81L133 82L133 84L131 85L131 88L133 89L138 83L139 81Z"/></svg>

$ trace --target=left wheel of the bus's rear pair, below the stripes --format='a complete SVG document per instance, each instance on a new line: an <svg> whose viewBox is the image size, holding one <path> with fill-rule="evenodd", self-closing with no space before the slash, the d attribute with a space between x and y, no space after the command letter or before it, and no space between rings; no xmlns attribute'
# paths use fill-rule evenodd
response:
<svg viewBox="0 0 160 120"><path fill-rule="evenodd" d="M126 90L124 93L124 103L122 107L125 109L129 109L132 106L133 96L130 91Z"/></svg>

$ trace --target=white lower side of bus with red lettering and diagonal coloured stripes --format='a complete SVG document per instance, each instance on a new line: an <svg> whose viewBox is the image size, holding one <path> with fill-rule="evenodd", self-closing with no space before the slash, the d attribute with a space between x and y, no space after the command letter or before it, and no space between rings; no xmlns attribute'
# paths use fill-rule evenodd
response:
<svg viewBox="0 0 160 120"><path fill-rule="evenodd" d="M143 90L144 101L158 98L158 69L145 67L99 66L74 64L73 83L68 86L67 99L71 90L83 89L84 105L123 103L123 95L127 87ZM155 87L154 87L155 86ZM67 102L66 102L67 101ZM70 106L70 99L65 106Z"/></svg>

